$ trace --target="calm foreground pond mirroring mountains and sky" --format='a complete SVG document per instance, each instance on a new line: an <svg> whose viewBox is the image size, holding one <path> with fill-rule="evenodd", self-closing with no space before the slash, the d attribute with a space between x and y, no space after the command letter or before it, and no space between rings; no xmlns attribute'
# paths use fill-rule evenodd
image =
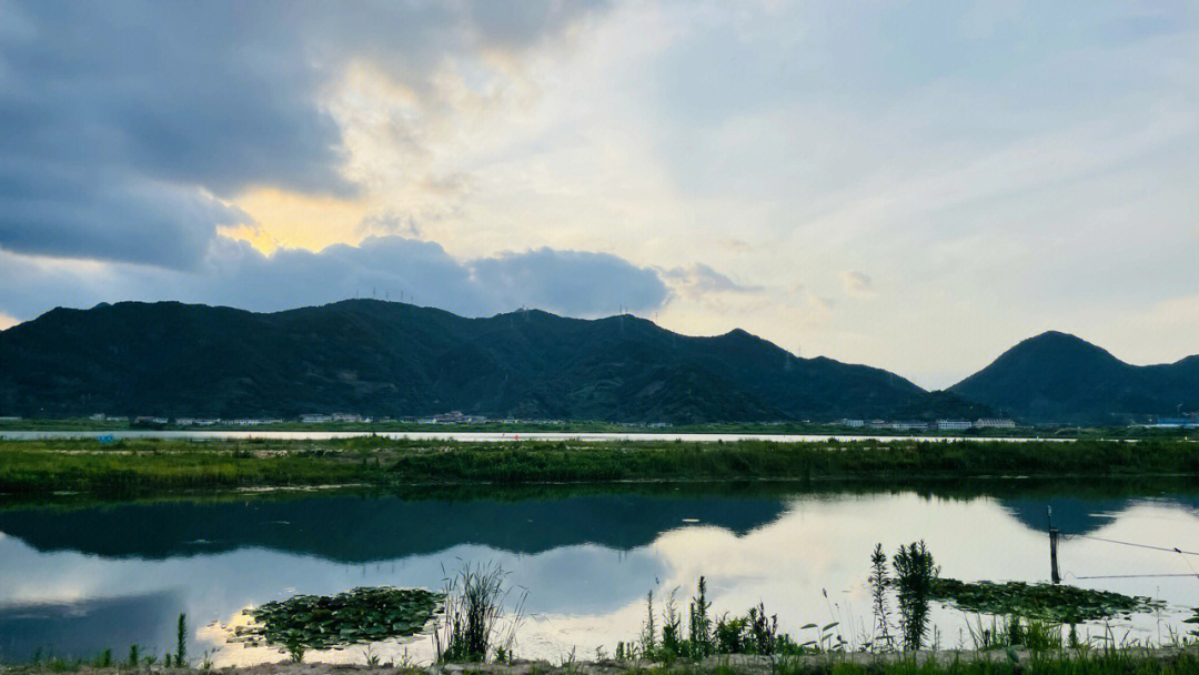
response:
<svg viewBox="0 0 1199 675"><path fill-rule="evenodd" d="M1199 486L1188 481L0 498L0 658L37 650L90 657L106 647L122 657L133 643L161 655L186 613L194 658L282 661L275 649L228 643L245 608L355 586L439 590L465 561L499 563L526 590L522 657L611 653L617 640L637 637L647 591L661 598L677 587L683 602L700 574L716 613L763 601L801 641L813 637L803 625L839 621L845 639L861 643L875 542L890 553L923 538L945 577L1047 580L1047 507L1066 537L1066 583L1169 603L1114 620L1119 637L1165 640L1186 608L1199 607L1199 558L1099 541L1199 552ZM941 646L970 645L963 613L934 605L933 617ZM430 643L392 640L372 652L422 661ZM307 658L361 662L364 650Z"/></svg>

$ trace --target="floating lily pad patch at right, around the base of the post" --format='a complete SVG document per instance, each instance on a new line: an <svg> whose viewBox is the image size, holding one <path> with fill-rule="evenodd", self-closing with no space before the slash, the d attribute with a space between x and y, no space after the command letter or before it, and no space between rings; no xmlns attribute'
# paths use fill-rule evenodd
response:
<svg viewBox="0 0 1199 675"><path fill-rule="evenodd" d="M1096 621L1165 607L1164 602L1147 597L1062 584L968 583L957 579L934 580L932 598L965 611L1060 623Z"/></svg>

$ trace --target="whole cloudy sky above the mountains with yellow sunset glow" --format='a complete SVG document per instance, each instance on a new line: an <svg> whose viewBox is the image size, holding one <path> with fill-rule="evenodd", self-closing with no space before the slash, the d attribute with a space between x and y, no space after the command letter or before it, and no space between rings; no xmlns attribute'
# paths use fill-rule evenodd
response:
<svg viewBox="0 0 1199 675"><path fill-rule="evenodd" d="M0 0L0 329L347 297L1199 354L1199 4Z"/></svg>

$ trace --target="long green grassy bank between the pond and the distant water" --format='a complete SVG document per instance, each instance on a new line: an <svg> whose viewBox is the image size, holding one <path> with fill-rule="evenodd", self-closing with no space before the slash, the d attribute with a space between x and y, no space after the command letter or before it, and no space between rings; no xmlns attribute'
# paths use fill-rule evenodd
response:
<svg viewBox="0 0 1199 675"><path fill-rule="evenodd" d="M1052 441L0 441L0 492L139 494L319 486L1199 476L1199 444Z"/></svg>

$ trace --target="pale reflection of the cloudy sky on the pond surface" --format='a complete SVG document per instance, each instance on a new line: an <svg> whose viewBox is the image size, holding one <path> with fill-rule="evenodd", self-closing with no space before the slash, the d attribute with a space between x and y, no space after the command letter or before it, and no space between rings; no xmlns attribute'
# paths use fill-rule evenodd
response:
<svg viewBox="0 0 1199 675"><path fill-rule="evenodd" d="M1137 501L1098 534L1199 550L1197 520L1191 508ZM717 613L741 613L763 601L769 611L779 614L787 631L799 631L809 621L842 621L861 633L868 625L869 601L863 584L870 549L879 542L890 553L899 543L920 538L928 542L945 575L1022 580L1048 577L1048 540L1013 518L1002 500L893 493L795 498L777 517L740 531L706 522L680 522L661 530L646 544L627 550L573 543L519 554L492 546L458 544L429 554L343 562L242 547L165 559L113 559L62 550L43 553L18 538L5 537L0 538L0 603L161 596L170 598L171 605L163 610L168 616L187 611L193 626L205 626L213 620L230 621L247 604L296 592L336 593L360 585L436 589L460 561L489 561L508 571L513 585L529 589L530 620L522 631L520 653L560 658L572 646L580 656L592 656L597 646L610 651L616 640L635 637L644 620L646 591L655 589L659 609L663 596L675 587L680 603L685 603L700 574L709 578ZM1147 556L1144 550L1080 538L1065 541L1060 558L1064 571L1078 575L1156 571L1158 563L1165 572L1185 571L1175 569L1183 566L1176 555ZM1199 604L1199 584L1193 579L1078 583L1152 595L1179 605ZM827 590L827 599L821 590ZM963 615L935 609L934 617L946 644L953 646L963 628ZM1133 622L1140 631L1153 628L1143 623ZM206 647L217 646L211 641L219 639L216 633L199 634L210 640ZM410 649L412 655L430 649L422 640L392 647L392 653ZM222 659L237 658L234 651L222 652L217 663L233 662ZM275 652L267 656L278 659ZM361 659L361 655L349 650L329 658Z"/></svg>

